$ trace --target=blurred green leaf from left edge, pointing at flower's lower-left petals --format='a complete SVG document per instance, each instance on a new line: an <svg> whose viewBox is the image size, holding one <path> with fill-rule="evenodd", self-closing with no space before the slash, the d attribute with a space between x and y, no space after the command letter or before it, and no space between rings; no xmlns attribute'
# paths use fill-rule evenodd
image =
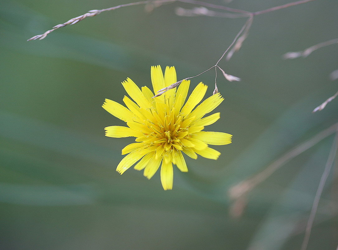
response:
<svg viewBox="0 0 338 250"><path fill-rule="evenodd" d="M0 127L2 138L53 150L82 160L108 164L114 157L110 149L95 145L97 138L88 135L79 136L77 133L13 113L0 111ZM119 153L115 152L115 156L117 155Z"/></svg>

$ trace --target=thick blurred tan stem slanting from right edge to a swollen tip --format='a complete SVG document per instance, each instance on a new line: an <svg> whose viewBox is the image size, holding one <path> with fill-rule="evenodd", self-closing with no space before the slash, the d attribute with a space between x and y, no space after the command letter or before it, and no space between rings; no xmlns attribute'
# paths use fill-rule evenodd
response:
<svg viewBox="0 0 338 250"><path fill-rule="evenodd" d="M331 127L319 132L310 140L299 144L297 147L292 149L291 151L285 153L282 157L275 160L271 163L268 167L266 167L260 173L252 176L251 178L241 181L240 183L236 184L235 186L229 189L229 195L233 199L239 199L243 195L246 195L249 191L251 191L254 187L256 187L261 182L265 181L272 173L274 173L277 169L282 167L286 162L290 161L291 159L295 158L297 155L303 153L304 151L308 150L309 148L316 145L318 142L327 138L334 132L338 130L338 123L332 125Z"/></svg>

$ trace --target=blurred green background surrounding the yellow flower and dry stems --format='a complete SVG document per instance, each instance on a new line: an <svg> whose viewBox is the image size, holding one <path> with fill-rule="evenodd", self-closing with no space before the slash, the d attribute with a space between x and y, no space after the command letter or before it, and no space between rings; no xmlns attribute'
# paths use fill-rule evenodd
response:
<svg viewBox="0 0 338 250"><path fill-rule="evenodd" d="M283 60L338 37L338 2L317 0L254 18L243 47L220 66L242 79L218 88L221 119L206 127L234 135L214 146L217 161L188 159L164 191L130 168L116 171L132 138L104 137L123 125L102 107L122 103L121 81L150 86L150 66L174 65L179 79L214 65L246 19L179 17L172 3L146 12L120 8L42 34L91 9L129 1L17 0L0 8L0 249L300 249L334 136L284 164L246 196L233 216L228 191L284 153L338 122L338 100L311 111L338 89L338 46ZM210 1L259 11L289 1ZM203 81L211 95L214 71ZM336 164L325 185L309 249L336 249Z"/></svg>

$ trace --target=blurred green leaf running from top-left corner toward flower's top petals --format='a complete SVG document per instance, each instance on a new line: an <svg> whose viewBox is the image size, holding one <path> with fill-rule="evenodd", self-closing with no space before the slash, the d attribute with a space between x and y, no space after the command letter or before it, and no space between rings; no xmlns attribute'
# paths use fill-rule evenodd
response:
<svg viewBox="0 0 338 250"><path fill-rule="evenodd" d="M47 22L47 18L11 1L4 1L0 16L3 17L0 21L2 26L0 46L20 52L43 57L67 58L128 72L148 71L149 66L142 64L144 61L153 61L154 65L175 65L176 67L184 65L183 62L164 55L151 55L149 52L137 51L89 36L64 33L61 30L57 30L57 34L51 34L43 41L27 42L32 32L42 32L41 29L49 28L52 22ZM41 27L42 23L46 25Z"/></svg>

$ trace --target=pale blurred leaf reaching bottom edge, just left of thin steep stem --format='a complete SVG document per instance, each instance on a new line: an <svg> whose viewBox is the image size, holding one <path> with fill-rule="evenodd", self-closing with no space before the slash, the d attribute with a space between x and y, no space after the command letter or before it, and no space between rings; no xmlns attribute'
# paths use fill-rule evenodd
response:
<svg viewBox="0 0 338 250"><path fill-rule="evenodd" d="M297 231L305 231L309 211L319 185L326 161L323 155L329 155L332 138L316 146L292 183L286 188L284 195L276 202L265 216L261 226L251 239L250 250L279 250ZM330 178L332 180L332 178ZM327 183L330 186L330 182ZM318 217L331 218L332 214L320 214ZM299 246L300 248L300 246Z"/></svg>

